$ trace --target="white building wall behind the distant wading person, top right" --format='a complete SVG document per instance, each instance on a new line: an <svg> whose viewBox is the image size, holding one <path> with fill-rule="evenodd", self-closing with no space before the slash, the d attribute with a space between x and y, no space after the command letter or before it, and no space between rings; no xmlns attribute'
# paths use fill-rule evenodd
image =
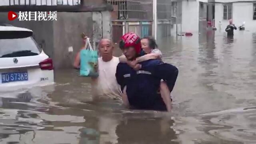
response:
<svg viewBox="0 0 256 144"><path fill-rule="evenodd" d="M232 7L232 19L238 27L245 22L246 30L256 30L256 20L253 20L253 3L252 2L235 2ZM223 4L215 4L215 26L221 32L225 31L229 24L228 20L223 20Z"/></svg>

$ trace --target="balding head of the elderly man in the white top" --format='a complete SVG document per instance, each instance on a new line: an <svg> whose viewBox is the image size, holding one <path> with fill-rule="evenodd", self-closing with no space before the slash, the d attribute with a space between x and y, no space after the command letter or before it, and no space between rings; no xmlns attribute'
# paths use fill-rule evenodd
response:
<svg viewBox="0 0 256 144"><path fill-rule="evenodd" d="M103 38L99 42L99 52L105 62L112 60L114 45L110 39Z"/></svg>

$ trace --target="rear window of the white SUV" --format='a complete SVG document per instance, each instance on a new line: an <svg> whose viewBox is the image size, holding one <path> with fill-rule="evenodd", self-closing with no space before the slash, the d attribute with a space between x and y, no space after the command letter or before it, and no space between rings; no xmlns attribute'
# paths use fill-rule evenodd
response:
<svg viewBox="0 0 256 144"><path fill-rule="evenodd" d="M0 58L35 56L42 52L30 36L26 38L0 38Z"/></svg>

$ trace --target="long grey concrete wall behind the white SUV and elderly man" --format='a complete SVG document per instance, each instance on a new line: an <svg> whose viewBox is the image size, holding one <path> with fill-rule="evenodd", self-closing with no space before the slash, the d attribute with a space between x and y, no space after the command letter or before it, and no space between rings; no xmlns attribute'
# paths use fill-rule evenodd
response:
<svg viewBox="0 0 256 144"><path fill-rule="evenodd" d="M102 18L104 16L104 18ZM105 20L102 22L102 20ZM98 47L101 38L110 38L110 12L58 12L57 21L9 21L6 12L0 12L0 23L33 30L34 38L53 58L56 69L72 68L74 57L82 46L81 34L91 38ZM102 30L103 29L103 30ZM72 47L73 51L68 51Z"/></svg>

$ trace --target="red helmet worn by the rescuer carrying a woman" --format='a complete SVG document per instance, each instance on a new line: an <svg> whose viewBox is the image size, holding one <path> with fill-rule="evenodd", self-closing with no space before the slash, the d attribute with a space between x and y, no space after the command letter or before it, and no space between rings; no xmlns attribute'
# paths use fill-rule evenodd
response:
<svg viewBox="0 0 256 144"><path fill-rule="evenodd" d="M134 47L137 54L141 52L140 37L133 33L127 33L122 36L122 40L119 44L120 48Z"/></svg>

